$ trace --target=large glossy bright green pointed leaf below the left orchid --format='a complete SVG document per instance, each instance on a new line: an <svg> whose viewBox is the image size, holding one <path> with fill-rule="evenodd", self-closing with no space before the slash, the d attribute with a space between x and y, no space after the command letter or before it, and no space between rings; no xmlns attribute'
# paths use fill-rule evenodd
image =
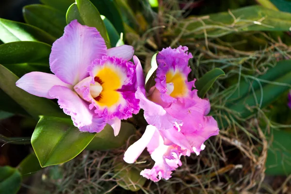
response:
<svg viewBox="0 0 291 194"><path fill-rule="evenodd" d="M42 167L67 162L88 146L96 133L81 132L71 119L43 116L32 134L32 147Z"/></svg>

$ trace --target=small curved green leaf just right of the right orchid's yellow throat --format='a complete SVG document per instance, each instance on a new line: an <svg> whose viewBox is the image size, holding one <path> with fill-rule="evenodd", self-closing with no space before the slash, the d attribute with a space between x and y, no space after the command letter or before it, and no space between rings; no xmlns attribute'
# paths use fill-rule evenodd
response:
<svg viewBox="0 0 291 194"><path fill-rule="evenodd" d="M220 68L214 68L195 82L195 88L198 90L198 97L204 98L213 83L220 77L225 76L225 72Z"/></svg>

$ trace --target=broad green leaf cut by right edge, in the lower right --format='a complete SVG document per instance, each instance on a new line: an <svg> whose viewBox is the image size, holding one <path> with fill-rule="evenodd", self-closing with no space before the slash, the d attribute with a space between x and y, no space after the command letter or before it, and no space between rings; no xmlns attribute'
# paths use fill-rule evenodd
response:
<svg viewBox="0 0 291 194"><path fill-rule="evenodd" d="M273 130L273 143L268 149L267 175L291 174L291 132Z"/></svg>

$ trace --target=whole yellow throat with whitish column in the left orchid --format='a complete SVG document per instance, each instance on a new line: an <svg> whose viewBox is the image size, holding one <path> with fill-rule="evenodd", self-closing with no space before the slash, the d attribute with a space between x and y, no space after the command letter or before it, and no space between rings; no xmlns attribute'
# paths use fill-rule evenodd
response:
<svg viewBox="0 0 291 194"><path fill-rule="evenodd" d="M104 65L95 75L95 84L90 86L90 93L99 106L110 108L122 98L116 90L122 87L123 76L112 65Z"/></svg>

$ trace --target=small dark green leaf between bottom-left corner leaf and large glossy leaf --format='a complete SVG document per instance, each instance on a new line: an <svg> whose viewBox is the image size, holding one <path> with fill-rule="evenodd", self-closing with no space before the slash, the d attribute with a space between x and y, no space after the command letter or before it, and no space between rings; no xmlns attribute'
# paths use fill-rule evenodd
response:
<svg viewBox="0 0 291 194"><path fill-rule="evenodd" d="M23 159L17 168L22 178L30 177L42 169L34 153Z"/></svg>

